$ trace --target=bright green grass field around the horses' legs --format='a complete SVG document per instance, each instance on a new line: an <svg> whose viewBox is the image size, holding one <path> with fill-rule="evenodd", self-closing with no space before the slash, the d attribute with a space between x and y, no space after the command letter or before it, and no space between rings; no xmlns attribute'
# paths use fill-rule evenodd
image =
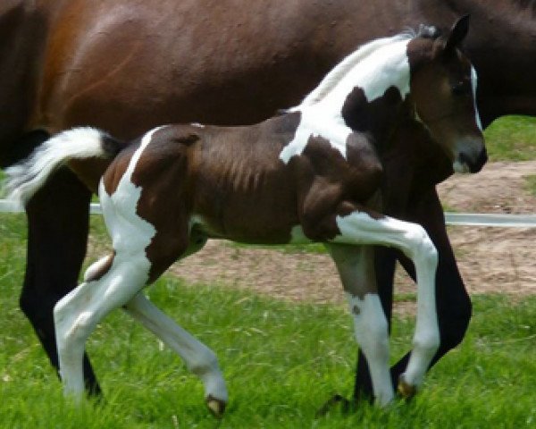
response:
<svg viewBox="0 0 536 429"><path fill-rule="evenodd" d="M490 144L491 159L536 158L535 122L518 119L488 131L491 143L511 137L506 148ZM512 137L515 132L521 137ZM92 223L92 234L105 242L101 219ZM345 308L289 304L171 277L148 294L220 358L230 390L226 416L214 420L201 383L180 358L120 311L88 341L105 401L75 408L63 400L18 308L25 234L23 216L0 215L2 428L536 427L536 296L473 297L465 341L434 366L411 402L385 410L363 403L352 413L335 408L315 418L333 393L352 392L356 344ZM406 352L412 331L411 319L395 321L394 358Z"/></svg>

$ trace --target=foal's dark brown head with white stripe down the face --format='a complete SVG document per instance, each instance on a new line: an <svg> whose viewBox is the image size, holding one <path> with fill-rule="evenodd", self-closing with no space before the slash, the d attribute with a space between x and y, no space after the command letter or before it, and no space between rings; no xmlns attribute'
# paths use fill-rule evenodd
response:
<svg viewBox="0 0 536 429"><path fill-rule="evenodd" d="M478 172L488 158L475 103L476 71L458 48L468 24L465 16L448 34L438 37L428 29L407 45L416 114L456 172Z"/></svg>

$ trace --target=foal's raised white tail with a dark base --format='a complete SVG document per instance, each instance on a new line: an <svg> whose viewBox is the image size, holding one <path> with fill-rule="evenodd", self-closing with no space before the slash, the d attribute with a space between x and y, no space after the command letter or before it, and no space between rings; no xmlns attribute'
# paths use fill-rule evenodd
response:
<svg viewBox="0 0 536 429"><path fill-rule="evenodd" d="M56 134L36 147L28 158L4 170L7 198L26 206L50 175L71 159L113 159L124 146L121 141L94 128L73 128Z"/></svg>

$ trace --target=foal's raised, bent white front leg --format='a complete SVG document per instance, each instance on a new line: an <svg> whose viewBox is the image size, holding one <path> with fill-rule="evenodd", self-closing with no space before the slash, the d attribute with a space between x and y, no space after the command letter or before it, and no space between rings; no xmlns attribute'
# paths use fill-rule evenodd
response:
<svg viewBox="0 0 536 429"><path fill-rule="evenodd" d="M341 235L335 242L390 246L413 260L417 274L417 315L414 348L403 376L406 383L419 385L440 343L435 302L436 248L423 227L415 223L389 217L373 219L368 214L355 212L338 216L337 224Z"/></svg>

